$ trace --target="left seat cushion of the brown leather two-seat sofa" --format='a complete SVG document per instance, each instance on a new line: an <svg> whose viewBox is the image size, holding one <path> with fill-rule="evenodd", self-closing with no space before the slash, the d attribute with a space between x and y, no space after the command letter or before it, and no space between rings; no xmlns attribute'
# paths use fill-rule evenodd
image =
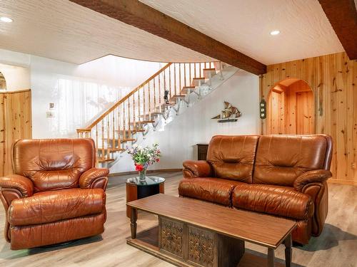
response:
<svg viewBox="0 0 357 267"><path fill-rule="evenodd" d="M182 197L191 197L231 206L232 190L237 184L242 183L211 177L182 179L178 184L178 194Z"/></svg>

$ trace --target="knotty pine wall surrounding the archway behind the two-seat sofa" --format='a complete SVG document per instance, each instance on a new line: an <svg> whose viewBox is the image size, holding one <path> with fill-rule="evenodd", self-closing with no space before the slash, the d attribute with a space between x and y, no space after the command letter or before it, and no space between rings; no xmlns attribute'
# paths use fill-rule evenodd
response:
<svg viewBox="0 0 357 267"><path fill-rule="evenodd" d="M315 132L333 138L333 182L357 184L357 61L335 53L268 66L260 78L261 98L267 100L273 85L287 78L304 80L313 90ZM263 135L267 120L261 120Z"/></svg>

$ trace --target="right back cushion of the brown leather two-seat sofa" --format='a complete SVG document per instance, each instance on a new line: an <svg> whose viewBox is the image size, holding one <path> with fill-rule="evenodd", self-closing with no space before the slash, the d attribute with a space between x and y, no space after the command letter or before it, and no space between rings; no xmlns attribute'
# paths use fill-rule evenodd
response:
<svg viewBox="0 0 357 267"><path fill-rule="evenodd" d="M262 135L254 164L253 184L293 186L303 172L330 169L328 135Z"/></svg>

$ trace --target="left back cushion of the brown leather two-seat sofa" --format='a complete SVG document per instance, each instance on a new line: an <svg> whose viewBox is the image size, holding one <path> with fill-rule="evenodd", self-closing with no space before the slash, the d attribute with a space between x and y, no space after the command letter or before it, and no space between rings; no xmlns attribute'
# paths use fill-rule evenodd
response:
<svg viewBox="0 0 357 267"><path fill-rule="evenodd" d="M251 183L256 147L256 135L216 135L208 145L207 162L214 176Z"/></svg>

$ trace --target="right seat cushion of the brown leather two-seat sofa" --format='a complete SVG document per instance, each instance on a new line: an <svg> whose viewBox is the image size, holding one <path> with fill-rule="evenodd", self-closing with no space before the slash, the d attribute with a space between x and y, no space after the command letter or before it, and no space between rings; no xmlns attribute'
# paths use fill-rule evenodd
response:
<svg viewBox="0 0 357 267"><path fill-rule="evenodd" d="M313 202L293 188L266 184L238 184L232 193L233 206L291 219L310 219Z"/></svg>

